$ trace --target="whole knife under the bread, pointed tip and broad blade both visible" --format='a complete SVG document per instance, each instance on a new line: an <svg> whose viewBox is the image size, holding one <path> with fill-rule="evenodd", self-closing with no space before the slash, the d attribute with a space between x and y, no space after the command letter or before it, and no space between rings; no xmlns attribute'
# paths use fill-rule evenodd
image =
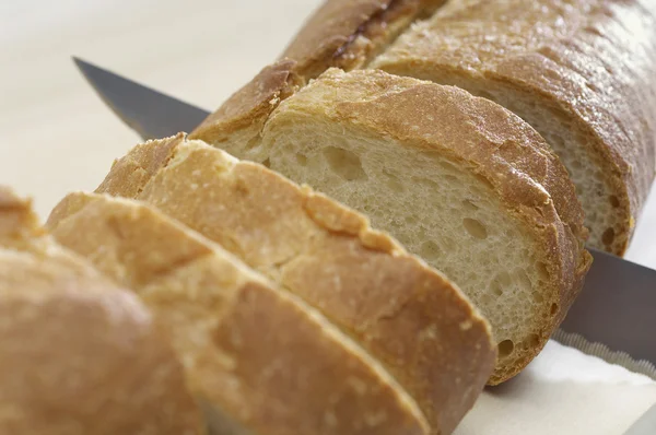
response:
<svg viewBox="0 0 656 435"><path fill-rule="evenodd" d="M210 111L73 58L107 106L139 136L192 131ZM588 248L581 295L554 338L656 379L656 270Z"/></svg>

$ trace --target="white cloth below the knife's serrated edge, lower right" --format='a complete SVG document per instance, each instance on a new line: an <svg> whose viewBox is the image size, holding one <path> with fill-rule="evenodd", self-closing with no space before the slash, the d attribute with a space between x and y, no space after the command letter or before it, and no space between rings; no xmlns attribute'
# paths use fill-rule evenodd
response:
<svg viewBox="0 0 656 435"><path fill-rule="evenodd" d="M620 435L656 383L555 341L516 378L488 388L455 435Z"/></svg>

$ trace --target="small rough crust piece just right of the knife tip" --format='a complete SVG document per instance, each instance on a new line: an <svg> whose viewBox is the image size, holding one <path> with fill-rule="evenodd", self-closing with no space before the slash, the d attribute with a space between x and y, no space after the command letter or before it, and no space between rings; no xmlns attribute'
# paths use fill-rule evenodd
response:
<svg viewBox="0 0 656 435"><path fill-rule="evenodd" d="M271 111L304 85L295 69L296 62L288 59L266 67L202 121L191 137L222 143L238 134L244 143L256 142Z"/></svg>

